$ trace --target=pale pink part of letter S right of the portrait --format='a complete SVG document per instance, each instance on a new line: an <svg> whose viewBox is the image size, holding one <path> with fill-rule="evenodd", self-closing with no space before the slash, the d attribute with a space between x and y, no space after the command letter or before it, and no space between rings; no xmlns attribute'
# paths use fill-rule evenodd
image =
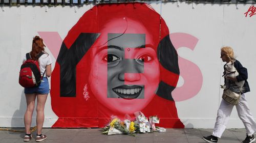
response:
<svg viewBox="0 0 256 143"><path fill-rule="evenodd" d="M170 34L170 39L174 47L178 50L181 47L187 47L194 50L198 39L186 33ZM199 67L179 56L180 76L184 79L182 87L177 87L173 91L174 101L184 101L196 96L202 88L203 75Z"/></svg>

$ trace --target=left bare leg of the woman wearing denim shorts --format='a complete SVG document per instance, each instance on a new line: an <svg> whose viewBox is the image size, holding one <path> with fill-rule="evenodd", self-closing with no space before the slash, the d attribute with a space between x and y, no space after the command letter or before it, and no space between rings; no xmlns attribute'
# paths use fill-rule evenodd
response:
<svg viewBox="0 0 256 143"><path fill-rule="evenodd" d="M24 115L24 124L25 124L25 130L27 134L30 134L30 127L31 127L31 121L32 121L32 115L33 110L35 106L35 94L25 94L26 101L27 101L27 110Z"/></svg>

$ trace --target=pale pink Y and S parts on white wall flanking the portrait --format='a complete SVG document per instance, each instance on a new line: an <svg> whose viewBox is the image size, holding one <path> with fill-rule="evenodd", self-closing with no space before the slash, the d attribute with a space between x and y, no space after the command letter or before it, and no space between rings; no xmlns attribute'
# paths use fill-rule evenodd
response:
<svg viewBox="0 0 256 143"><path fill-rule="evenodd" d="M62 39L57 32L38 32L42 37L53 54L57 59L59 49L61 47ZM198 39L192 35L186 33L174 33L170 34L170 39L174 47L179 49L180 47L187 47L191 50L195 49ZM186 59L179 56L180 76L184 79L182 87L176 87L173 91L173 98L175 101L184 101L196 96L201 90L203 83L203 76L199 67Z"/></svg>

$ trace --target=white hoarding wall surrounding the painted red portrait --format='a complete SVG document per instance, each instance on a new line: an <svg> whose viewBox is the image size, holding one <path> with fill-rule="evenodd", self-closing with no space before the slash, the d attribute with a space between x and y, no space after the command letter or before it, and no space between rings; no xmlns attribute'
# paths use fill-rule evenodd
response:
<svg viewBox="0 0 256 143"><path fill-rule="evenodd" d="M179 54L180 78L174 99L178 116L186 128L213 128L220 105L223 65L220 48L231 46L237 59L248 69L251 92L246 93L256 117L256 16L246 13L251 4L151 3L165 20L170 38ZM18 72L32 38L40 32L57 32L64 39L70 28L93 5L83 7L1 7L0 8L0 126L24 127L26 99L18 84ZM150 18L150 17L148 17ZM173 39L172 39L173 38ZM173 40L179 42L175 42ZM186 43L186 44L184 44ZM178 46L178 47L177 47ZM47 48L55 66L56 56ZM51 80L51 78L49 78ZM179 97L178 95L182 95ZM243 128L233 108L227 128ZM58 117L48 96L45 127ZM161 121L160 121L161 122ZM35 113L32 125L35 125Z"/></svg>

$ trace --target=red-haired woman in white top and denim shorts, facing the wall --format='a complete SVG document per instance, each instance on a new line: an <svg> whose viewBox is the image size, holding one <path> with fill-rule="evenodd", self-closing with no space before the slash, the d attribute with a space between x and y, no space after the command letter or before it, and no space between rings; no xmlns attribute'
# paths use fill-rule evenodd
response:
<svg viewBox="0 0 256 143"><path fill-rule="evenodd" d="M43 52L39 59L37 59L37 55ZM43 40L39 36L35 36L32 42L32 50L30 51L30 58L33 60L38 60L40 73L42 77L41 83L37 87L33 88L25 88L24 93L26 96L27 101L27 110L24 115L24 123L26 129L26 135L24 137L24 141L29 141L33 138L31 134L30 127L32 121L32 114L35 105L35 99L37 99L36 105L36 126L37 126L37 134L36 134L36 141L45 140L47 137L46 135L42 135L42 125L44 124L45 120L45 103L47 99L47 95L49 94L49 82L48 78L52 74L51 64L52 60L47 52L45 52L45 44ZM23 59L23 63L27 60L26 55Z"/></svg>

